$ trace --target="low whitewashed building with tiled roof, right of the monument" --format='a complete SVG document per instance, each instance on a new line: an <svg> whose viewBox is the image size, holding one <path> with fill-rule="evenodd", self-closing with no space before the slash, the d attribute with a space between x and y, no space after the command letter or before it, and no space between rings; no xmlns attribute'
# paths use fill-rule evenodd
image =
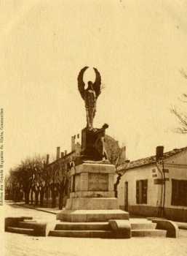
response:
<svg viewBox="0 0 187 256"><path fill-rule="evenodd" d="M130 214L187 221L187 147L120 165L119 206ZM165 180L165 181L164 181Z"/></svg>

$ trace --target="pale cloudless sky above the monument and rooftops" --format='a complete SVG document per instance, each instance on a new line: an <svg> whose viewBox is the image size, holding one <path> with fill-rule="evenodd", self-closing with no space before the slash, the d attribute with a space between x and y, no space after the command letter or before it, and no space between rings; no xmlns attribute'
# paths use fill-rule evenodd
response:
<svg viewBox="0 0 187 256"><path fill-rule="evenodd" d="M95 127L127 147L130 160L187 146L170 112L185 110L187 2L0 1L0 107L5 170L34 154L70 151L86 125L77 75L97 67L104 89Z"/></svg>

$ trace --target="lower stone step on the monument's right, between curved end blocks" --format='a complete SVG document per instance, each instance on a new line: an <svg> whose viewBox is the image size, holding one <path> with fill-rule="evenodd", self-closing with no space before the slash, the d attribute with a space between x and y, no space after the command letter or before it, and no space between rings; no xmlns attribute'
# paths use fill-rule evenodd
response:
<svg viewBox="0 0 187 256"><path fill-rule="evenodd" d="M131 230L132 236L136 237L166 237L167 230Z"/></svg>

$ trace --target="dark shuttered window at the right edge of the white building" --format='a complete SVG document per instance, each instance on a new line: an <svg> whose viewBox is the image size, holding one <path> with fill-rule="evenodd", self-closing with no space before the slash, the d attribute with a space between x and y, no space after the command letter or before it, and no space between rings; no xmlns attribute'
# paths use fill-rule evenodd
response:
<svg viewBox="0 0 187 256"><path fill-rule="evenodd" d="M172 206L187 206L187 181L172 179Z"/></svg>

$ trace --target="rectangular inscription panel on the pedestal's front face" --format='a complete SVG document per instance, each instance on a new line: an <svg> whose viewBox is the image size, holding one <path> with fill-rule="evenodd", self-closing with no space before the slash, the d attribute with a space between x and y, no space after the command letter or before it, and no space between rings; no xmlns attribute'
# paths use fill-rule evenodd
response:
<svg viewBox="0 0 187 256"><path fill-rule="evenodd" d="M89 173L89 191L108 191L108 173Z"/></svg>

